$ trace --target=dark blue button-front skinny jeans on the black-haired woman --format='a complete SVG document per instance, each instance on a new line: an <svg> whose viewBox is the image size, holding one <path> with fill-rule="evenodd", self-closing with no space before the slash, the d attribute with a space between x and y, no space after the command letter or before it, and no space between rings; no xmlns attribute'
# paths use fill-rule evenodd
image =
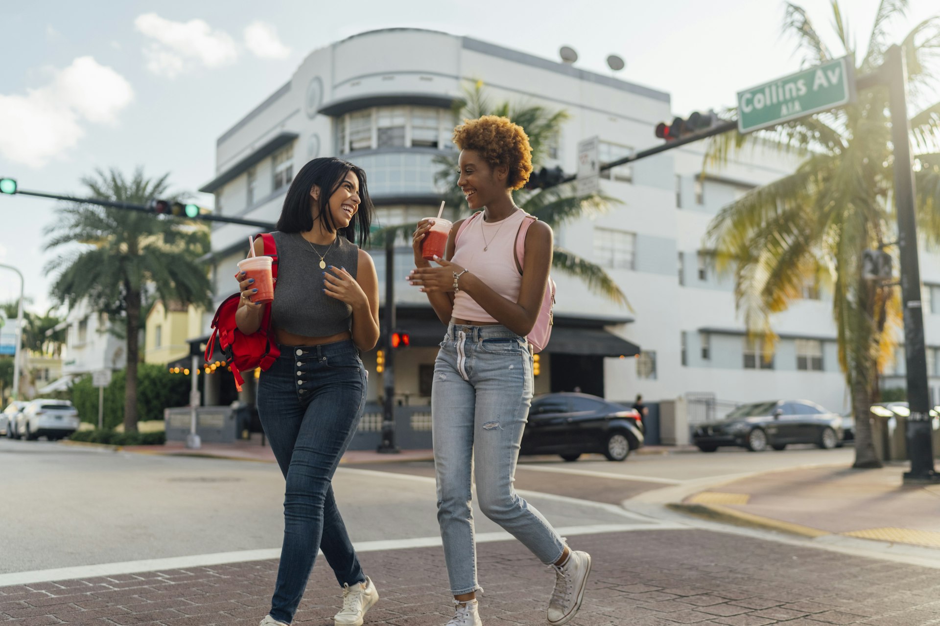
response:
<svg viewBox="0 0 940 626"><path fill-rule="evenodd" d="M258 415L287 480L274 619L290 623L318 550L340 586L366 582L332 485L365 405L366 368L350 340L282 345L258 380Z"/></svg>

